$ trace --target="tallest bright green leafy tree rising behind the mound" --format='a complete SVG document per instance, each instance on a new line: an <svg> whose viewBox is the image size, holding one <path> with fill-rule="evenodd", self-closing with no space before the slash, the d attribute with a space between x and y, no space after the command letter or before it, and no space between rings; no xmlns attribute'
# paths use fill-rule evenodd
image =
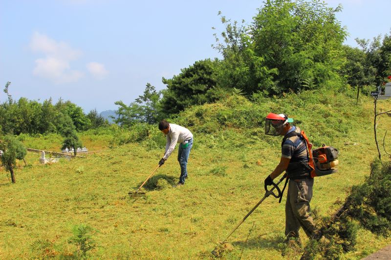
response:
<svg viewBox="0 0 391 260"><path fill-rule="evenodd" d="M248 28L234 23L221 34L223 86L273 95L339 81L347 35L336 20L339 11L319 0L266 0Z"/></svg>

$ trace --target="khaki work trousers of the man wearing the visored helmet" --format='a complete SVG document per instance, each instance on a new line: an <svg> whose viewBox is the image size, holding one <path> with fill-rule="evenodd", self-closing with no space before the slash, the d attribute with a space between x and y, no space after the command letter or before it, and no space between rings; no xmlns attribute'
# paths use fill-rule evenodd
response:
<svg viewBox="0 0 391 260"><path fill-rule="evenodd" d="M288 183L288 195L285 203L285 237L299 239L299 229L303 228L305 234L310 237L315 225L310 216L309 202L312 198L314 179L290 180Z"/></svg>

